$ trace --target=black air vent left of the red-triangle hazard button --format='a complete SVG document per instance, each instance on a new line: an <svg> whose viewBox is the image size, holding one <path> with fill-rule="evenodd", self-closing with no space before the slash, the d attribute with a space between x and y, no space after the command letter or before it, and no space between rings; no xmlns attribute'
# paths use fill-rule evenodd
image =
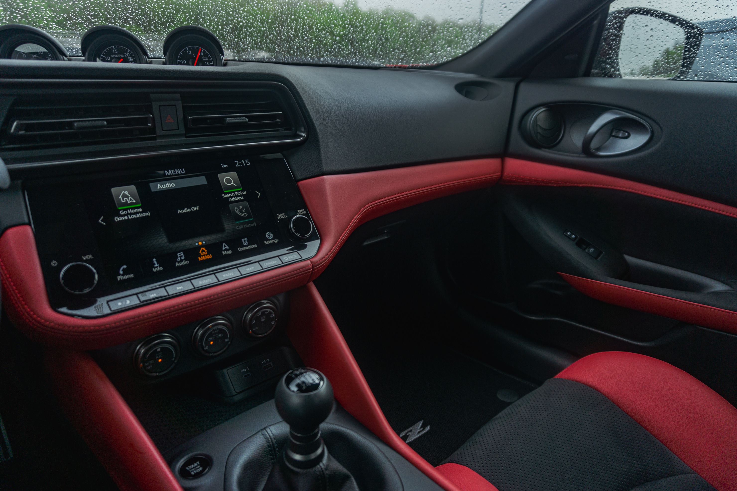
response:
<svg viewBox="0 0 737 491"><path fill-rule="evenodd" d="M22 150L155 139L150 102L129 100L111 104L89 99L64 102L19 99L10 107L3 124L1 146L4 150Z"/></svg>

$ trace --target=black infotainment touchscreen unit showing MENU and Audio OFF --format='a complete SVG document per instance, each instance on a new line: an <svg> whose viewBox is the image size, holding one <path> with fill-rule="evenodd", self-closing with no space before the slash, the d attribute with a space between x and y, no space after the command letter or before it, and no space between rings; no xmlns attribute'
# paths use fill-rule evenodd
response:
<svg viewBox="0 0 737 491"><path fill-rule="evenodd" d="M167 292L167 281L251 264L228 270L240 277L267 269L269 261L284 264L287 252L296 252L293 260L313 255L312 226L307 236L290 228L295 216L309 219L290 169L280 156L268 157L201 158L145 172L28 183L52 306L106 314L116 310L119 302L109 299L120 292L138 305L153 286ZM75 266L82 273L89 265L99 275L89 292L74 291L71 276L60 279L76 263L85 263Z"/></svg>

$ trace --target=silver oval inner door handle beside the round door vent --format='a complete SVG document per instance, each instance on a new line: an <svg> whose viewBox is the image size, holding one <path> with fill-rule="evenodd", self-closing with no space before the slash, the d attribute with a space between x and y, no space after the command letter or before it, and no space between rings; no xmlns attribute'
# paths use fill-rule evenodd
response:
<svg viewBox="0 0 737 491"><path fill-rule="evenodd" d="M610 157L632 152L652 137L652 128L638 116L610 109L591 124L581 149L592 157Z"/></svg>

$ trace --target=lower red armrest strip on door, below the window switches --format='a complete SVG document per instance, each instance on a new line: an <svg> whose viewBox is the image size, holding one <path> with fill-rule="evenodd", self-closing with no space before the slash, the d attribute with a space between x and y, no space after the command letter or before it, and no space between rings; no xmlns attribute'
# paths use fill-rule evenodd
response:
<svg viewBox="0 0 737 491"><path fill-rule="evenodd" d="M737 334L737 312L562 272L558 274L570 286L596 300Z"/></svg>

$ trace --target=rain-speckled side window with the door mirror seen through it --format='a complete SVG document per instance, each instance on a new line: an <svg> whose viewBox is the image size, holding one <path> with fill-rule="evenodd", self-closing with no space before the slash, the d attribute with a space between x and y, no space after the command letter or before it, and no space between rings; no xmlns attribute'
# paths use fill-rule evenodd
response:
<svg viewBox="0 0 737 491"><path fill-rule="evenodd" d="M737 81L737 2L615 0L591 75Z"/></svg>

